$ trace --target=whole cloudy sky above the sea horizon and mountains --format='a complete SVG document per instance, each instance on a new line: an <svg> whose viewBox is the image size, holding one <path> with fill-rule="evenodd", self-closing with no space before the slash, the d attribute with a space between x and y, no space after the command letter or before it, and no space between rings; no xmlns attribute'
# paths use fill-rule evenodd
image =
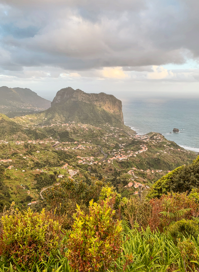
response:
<svg viewBox="0 0 199 272"><path fill-rule="evenodd" d="M0 86L199 98L198 0L0 0Z"/></svg>

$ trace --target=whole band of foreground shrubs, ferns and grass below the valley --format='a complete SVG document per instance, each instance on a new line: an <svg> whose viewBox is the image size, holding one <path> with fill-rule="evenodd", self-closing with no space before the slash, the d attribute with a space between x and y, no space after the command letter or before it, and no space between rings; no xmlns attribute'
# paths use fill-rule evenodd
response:
<svg viewBox="0 0 199 272"><path fill-rule="evenodd" d="M48 211L4 209L1 271L198 271L199 188L155 199L94 178L88 188L63 181L46 194Z"/></svg>

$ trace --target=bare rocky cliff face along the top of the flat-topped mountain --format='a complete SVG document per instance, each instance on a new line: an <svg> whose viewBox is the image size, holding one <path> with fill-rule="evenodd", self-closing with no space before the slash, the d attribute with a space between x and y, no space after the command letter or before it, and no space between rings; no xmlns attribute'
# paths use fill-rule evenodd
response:
<svg viewBox="0 0 199 272"><path fill-rule="evenodd" d="M71 87L68 87L57 92L56 96L51 102L51 107L57 104L64 104L68 100L94 104L99 109L104 109L109 113L117 115L121 120L121 123L124 124L122 102L114 97L114 95L105 94L103 92L99 94L87 94L80 89L74 90Z"/></svg>

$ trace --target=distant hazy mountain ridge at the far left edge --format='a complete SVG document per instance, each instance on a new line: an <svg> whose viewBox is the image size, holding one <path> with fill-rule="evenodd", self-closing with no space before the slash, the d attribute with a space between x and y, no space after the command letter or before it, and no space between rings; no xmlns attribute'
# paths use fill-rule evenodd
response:
<svg viewBox="0 0 199 272"><path fill-rule="evenodd" d="M37 107L41 109L48 109L50 101L44 99L30 89L23 88L8 88L7 86L0 87L0 105L9 106L12 109L22 109ZM28 105L27 105L28 104Z"/></svg>

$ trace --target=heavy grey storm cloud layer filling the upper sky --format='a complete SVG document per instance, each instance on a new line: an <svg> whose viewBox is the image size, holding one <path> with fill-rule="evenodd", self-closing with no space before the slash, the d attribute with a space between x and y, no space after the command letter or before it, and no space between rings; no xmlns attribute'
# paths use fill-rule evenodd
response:
<svg viewBox="0 0 199 272"><path fill-rule="evenodd" d="M143 71L198 60L198 11L198 0L1 0L0 66Z"/></svg>

